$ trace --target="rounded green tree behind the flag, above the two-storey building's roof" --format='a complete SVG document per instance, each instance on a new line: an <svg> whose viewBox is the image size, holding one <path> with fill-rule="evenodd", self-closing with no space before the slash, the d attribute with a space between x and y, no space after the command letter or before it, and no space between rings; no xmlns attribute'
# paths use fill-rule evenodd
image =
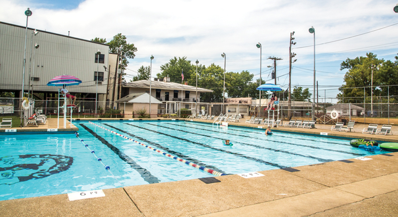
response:
<svg viewBox="0 0 398 217"><path fill-rule="evenodd" d="M160 66L161 73L156 74L158 78L170 77L170 81L181 83L181 73L184 72L184 81L191 78L191 74L195 74L196 65L191 64L191 60L187 57L174 57L166 64ZM195 77L196 78L196 77Z"/></svg>

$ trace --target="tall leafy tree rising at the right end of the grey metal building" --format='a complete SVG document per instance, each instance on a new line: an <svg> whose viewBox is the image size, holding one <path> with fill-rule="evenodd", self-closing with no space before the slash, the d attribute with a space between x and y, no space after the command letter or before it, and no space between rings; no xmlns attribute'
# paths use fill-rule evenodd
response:
<svg viewBox="0 0 398 217"><path fill-rule="evenodd" d="M125 35L119 33L113 36L113 39L108 43L109 50L117 54L115 72L117 72L118 68L125 70L127 64L129 64L127 58L134 59L135 57L134 52L137 51L137 48L134 47L133 43L131 44L127 43L126 39L127 38ZM113 95L112 95L111 108L113 108L113 102L115 101L116 77L117 73L115 73L115 79L114 79L115 82L113 82ZM119 81L121 81L121 77L119 77Z"/></svg>

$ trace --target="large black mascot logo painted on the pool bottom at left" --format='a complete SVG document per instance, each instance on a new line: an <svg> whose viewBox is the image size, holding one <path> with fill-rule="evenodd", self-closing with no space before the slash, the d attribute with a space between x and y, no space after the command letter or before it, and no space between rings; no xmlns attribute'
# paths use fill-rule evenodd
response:
<svg viewBox="0 0 398 217"><path fill-rule="evenodd" d="M73 157L64 155L12 155L0 158L0 185L12 185L30 179L66 171L73 163Z"/></svg>

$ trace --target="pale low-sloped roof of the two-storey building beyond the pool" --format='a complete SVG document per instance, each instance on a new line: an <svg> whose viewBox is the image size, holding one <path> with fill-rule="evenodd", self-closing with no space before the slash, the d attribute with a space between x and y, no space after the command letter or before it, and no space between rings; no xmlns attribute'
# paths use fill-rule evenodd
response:
<svg viewBox="0 0 398 217"><path fill-rule="evenodd" d="M164 82L164 81L151 81L149 84L149 80L139 80L139 81L133 81L130 83L126 83L123 85L123 87L130 87L130 88L147 88L149 89L149 85L151 86L151 89L164 89L164 90L184 90L184 91L196 91L196 87L190 86L190 85L185 85L185 84L180 84L180 83L174 83L174 82ZM212 90L205 89L198 87L197 88L198 92L204 92L204 93L211 93L213 92Z"/></svg>

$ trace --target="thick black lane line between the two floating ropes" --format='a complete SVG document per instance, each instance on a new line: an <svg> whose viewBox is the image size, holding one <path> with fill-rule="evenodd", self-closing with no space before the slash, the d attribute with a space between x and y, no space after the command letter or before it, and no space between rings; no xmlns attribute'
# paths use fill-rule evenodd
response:
<svg viewBox="0 0 398 217"><path fill-rule="evenodd" d="M148 182L149 184L152 183L159 183L160 180L156 178L156 176L153 176L149 171L147 171L145 168L142 168L140 165L138 165L133 159L131 159L128 155L123 153L123 151L120 151L117 147L113 146L111 143L106 141L104 138L96 134L94 131L92 131L90 128L84 126L84 124L80 124L85 130L87 130L90 134L92 134L95 138L100 140L104 145L108 146L117 156L120 157L123 161L128 163L131 168L135 169L141 177Z"/></svg>

